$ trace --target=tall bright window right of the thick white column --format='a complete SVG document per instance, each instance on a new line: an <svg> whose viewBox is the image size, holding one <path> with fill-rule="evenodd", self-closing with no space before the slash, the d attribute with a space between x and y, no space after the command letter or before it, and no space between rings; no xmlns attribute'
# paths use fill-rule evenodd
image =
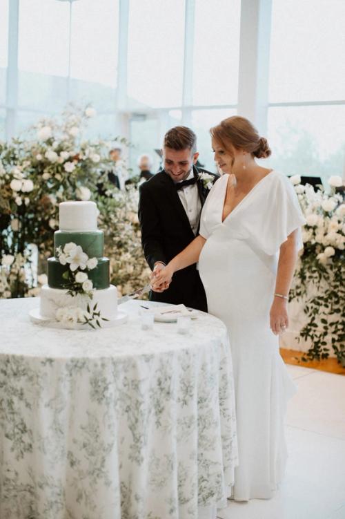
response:
<svg viewBox="0 0 345 519"><path fill-rule="evenodd" d="M344 27L342 0L273 0L268 137L285 173L342 172Z"/></svg>

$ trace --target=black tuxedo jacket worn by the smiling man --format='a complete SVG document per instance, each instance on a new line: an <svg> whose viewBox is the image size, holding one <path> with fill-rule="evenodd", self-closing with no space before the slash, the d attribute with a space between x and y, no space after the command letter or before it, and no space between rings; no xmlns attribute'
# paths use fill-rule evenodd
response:
<svg viewBox="0 0 345 519"><path fill-rule="evenodd" d="M199 173L208 173L214 181L218 176L193 167ZM209 189L202 180L197 180L201 207L204 205ZM139 221L141 225L141 244L146 261L151 270L156 261L168 263L179 254L195 236L186 211L184 210L174 182L164 170L141 184L139 188ZM207 311L206 294L201 283L197 265L175 272L168 290L162 293L150 292L151 301L165 303L184 303L197 310Z"/></svg>

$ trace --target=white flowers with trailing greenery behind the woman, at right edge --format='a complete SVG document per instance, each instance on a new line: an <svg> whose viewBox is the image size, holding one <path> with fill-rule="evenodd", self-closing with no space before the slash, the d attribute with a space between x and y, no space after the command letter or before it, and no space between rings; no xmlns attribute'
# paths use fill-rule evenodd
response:
<svg viewBox="0 0 345 519"><path fill-rule="evenodd" d="M342 194L335 191L342 186L342 179L333 176L328 184L331 191L326 193L324 189L315 191L310 185L293 182L306 225L302 229L304 251L299 258L290 299L302 298L304 302L307 323L299 337L312 346L302 360L327 358L330 343L338 361L345 366L340 319L345 296L345 204Z"/></svg>

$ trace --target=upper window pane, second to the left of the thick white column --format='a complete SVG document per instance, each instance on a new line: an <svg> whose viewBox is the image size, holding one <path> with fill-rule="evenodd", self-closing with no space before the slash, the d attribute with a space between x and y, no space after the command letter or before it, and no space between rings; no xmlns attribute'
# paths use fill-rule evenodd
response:
<svg viewBox="0 0 345 519"><path fill-rule="evenodd" d="M184 0L130 0L128 107L180 106Z"/></svg>

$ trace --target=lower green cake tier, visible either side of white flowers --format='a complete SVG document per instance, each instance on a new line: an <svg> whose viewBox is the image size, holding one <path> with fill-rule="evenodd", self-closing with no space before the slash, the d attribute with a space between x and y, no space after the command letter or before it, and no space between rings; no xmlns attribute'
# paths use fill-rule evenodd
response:
<svg viewBox="0 0 345 519"><path fill-rule="evenodd" d="M48 285L50 288L66 288L66 279L62 277L63 272L70 270L70 265L61 265L56 258L48 259ZM98 265L92 270L84 270L88 274L88 279L93 283L97 290L108 288L109 283L109 260L108 258L98 258Z"/></svg>

